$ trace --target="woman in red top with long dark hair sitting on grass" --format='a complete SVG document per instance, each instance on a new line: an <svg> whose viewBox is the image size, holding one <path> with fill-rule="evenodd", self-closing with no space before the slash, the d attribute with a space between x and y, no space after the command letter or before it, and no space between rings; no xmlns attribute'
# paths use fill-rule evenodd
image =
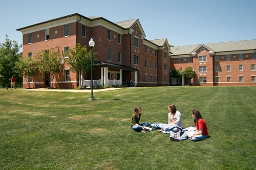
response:
<svg viewBox="0 0 256 170"><path fill-rule="evenodd" d="M191 116L194 118L194 123L196 127L190 127L190 128L185 128L183 131L182 136L175 138L170 136L170 140L172 141L181 141L181 140L186 140L187 138L192 140L192 141L199 141L206 139L208 137L208 129L205 123L205 120L201 116L199 110L192 110ZM188 131L186 131L188 129Z"/></svg>

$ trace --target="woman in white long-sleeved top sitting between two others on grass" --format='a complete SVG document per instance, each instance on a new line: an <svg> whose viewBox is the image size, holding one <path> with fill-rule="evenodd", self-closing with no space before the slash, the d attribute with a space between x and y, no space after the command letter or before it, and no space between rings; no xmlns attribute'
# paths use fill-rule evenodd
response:
<svg viewBox="0 0 256 170"><path fill-rule="evenodd" d="M169 104L168 110L168 124L159 124L159 128L162 130L159 130L158 132L169 133L172 127L182 126L181 113L176 109L176 106L174 104Z"/></svg>

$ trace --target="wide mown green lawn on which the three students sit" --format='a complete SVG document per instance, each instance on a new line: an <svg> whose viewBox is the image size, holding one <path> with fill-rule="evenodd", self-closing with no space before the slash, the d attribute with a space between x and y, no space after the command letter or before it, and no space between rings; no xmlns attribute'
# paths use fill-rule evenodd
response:
<svg viewBox="0 0 256 170"><path fill-rule="evenodd" d="M255 169L256 86L168 86L91 93L0 89L1 169ZM172 142L157 130L130 128L135 106L143 122L167 123L167 105L183 128L200 110L210 138Z"/></svg>

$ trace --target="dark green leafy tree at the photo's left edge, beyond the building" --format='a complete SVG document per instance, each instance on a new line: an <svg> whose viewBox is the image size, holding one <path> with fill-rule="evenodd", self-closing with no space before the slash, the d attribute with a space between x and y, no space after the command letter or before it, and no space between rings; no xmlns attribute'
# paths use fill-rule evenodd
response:
<svg viewBox="0 0 256 170"><path fill-rule="evenodd" d="M10 78L12 76L16 79L16 84L22 84L22 77L19 77L15 70L15 63L22 58L22 53L19 53L19 48L22 45L13 40L11 41L6 35L6 41L0 44L0 85L10 84Z"/></svg>

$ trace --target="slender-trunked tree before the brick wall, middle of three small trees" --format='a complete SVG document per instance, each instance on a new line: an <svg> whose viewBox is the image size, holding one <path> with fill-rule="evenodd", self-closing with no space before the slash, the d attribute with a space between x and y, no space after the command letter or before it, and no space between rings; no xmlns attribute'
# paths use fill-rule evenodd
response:
<svg viewBox="0 0 256 170"><path fill-rule="evenodd" d="M48 50L40 51L36 54L37 68L42 75L46 76L49 81L49 88L52 88L52 82L57 72L60 72L64 68L64 64L60 58L59 48L51 47Z"/></svg>

